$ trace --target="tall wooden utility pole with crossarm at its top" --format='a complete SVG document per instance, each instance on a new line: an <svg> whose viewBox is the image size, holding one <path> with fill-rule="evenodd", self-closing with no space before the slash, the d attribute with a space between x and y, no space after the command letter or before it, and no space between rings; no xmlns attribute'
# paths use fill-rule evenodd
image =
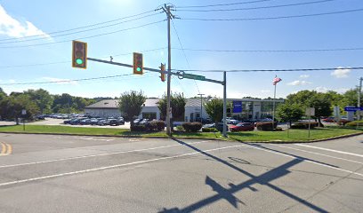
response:
<svg viewBox="0 0 363 213"><path fill-rule="evenodd" d="M167 16L167 104L166 104L166 134L168 136L172 135L171 130L171 122L170 122L170 83L172 81L172 44L171 44L171 36L170 36L170 20L174 19L175 16L170 12L170 9L173 6L164 4L162 7L163 11Z"/></svg>

